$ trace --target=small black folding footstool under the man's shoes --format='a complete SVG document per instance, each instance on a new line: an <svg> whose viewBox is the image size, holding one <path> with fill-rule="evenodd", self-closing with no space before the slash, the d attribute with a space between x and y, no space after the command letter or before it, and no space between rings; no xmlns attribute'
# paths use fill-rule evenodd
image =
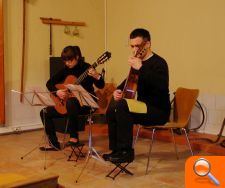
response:
<svg viewBox="0 0 225 188"><path fill-rule="evenodd" d="M112 178L113 180L115 180L115 178L120 174L120 173L126 173L128 175L133 176L134 174L127 170L126 167L130 164L130 163L112 163L115 165L115 168L112 169L107 175L106 177ZM112 175L114 174L114 175Z"/></svg>

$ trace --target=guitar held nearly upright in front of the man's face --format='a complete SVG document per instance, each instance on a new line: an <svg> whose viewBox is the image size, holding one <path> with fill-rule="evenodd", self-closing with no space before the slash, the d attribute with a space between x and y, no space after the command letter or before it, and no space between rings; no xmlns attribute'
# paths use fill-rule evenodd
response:
<svg viewBox="0 0 225 188"><path fill-rule="evenodd" d="M146 51L144 48L145 43L140 50L136 52L134 57L141 57L142 54ZM137 83L138 83L138 71L134 68L130 68L129 75L126 79L125 86L123 88L123 98L126 99L134 99L137 91Z"/></svg>

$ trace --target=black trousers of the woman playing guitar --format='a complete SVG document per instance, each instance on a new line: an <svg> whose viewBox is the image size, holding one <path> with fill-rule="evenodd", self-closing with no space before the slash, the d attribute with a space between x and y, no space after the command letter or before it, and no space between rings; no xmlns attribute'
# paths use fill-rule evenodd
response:
<svg viewBox="0 0 225 188"><path fill-rule="evenodd" d="M58 146L59 142L56 136L56 129L53 121L54 118L67 118L70 137L78 138L78 116L90 113L90 108L87 106L81 107L79 101L75 97L67 100L66 109L67 114L65 115L58 113L54 107L46 107L40 112L41 120L45 126L45 131L49 141L55 146Z"/></svg>

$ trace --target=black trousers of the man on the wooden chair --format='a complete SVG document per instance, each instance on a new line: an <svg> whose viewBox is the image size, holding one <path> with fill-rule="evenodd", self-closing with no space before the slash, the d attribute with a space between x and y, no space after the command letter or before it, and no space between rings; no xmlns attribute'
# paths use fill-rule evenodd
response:
<svg viewBox="0 0 225 188"><path fill-rule="evenodd" d="M111 100L106 111L108 123L109 149L130 150L133 145L133 125L163 125L169 114L151 107L148 113L131 113L125 99Z"/></svg>

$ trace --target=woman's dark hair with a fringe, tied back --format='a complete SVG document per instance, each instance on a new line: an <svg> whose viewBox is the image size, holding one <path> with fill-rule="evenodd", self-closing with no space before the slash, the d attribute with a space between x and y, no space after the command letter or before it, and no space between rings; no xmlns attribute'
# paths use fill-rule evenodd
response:
<svg viewBox="0 0 225 188"><path fill-rule="evenodd" d="M66 46L61 53L61 58L63 61L73 60L77 57L78 60L83 60L79 46Z"/></svg>

